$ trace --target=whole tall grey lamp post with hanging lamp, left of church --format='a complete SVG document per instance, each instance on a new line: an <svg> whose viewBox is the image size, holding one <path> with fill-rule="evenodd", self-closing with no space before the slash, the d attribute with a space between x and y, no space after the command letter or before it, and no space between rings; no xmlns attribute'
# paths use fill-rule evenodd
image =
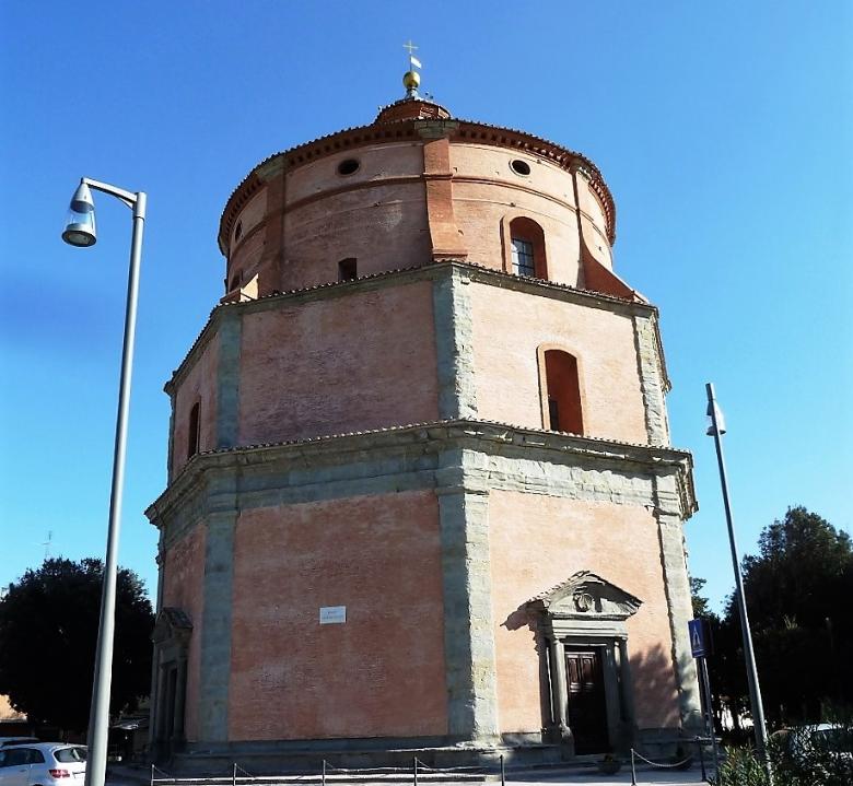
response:
<svg viewBox="0 0 853 786"><path fill-rule="evenodd" d="M116 619L116 572L118 531L121 523L121 494L125 485L125 453L127 446L128 402L133 367L133 339L137 325L139 292L139 260L142 249L142 230L145 224L145 193L131 193L106 183L83 177L71 198L69 220L62 239L81 248L95 245L95 206L90 189L109 193L122 201L133 213L133 233L130 241L130 270L125 307L125 337L121 349L121 376L118 387L118 414L113 450L113 483L109 493L109 524L104 562L104 583L101 590L101 618L97 627L95 674L92 685L92 705L89 713L89 762L85 786L103 786L106 776L107 736L109 732L109 691L113 677L113 638Z"/></svg>

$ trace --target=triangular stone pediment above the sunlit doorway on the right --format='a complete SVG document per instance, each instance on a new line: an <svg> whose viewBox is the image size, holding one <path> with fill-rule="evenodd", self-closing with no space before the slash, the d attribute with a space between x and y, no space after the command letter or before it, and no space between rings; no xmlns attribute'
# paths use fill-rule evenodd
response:
<svg viewBox="0 0 853 786"><path fill-rule="evenodd" d="M642 600L589 571L579 571L562 584L537 595L527 607L558 619L624 620Z"/></svg>

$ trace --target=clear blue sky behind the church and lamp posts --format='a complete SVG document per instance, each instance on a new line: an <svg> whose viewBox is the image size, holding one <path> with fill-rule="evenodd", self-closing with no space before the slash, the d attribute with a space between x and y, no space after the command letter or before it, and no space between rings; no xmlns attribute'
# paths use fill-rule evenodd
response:
<svg viewBox="0 0 853 786"><path fill-rule="evenodd" d="M588 155L618 272L661 307L687 525L732 568L704 383L741 552L788 505L851 527L853 5L826 2L4 2L0 10L0 584L103 555L130 219L61 243L82 175L149 193L120 561L152 594L162 392L222 293L217 226L266 156L401 97L402 44L455 115Z"/></svg>

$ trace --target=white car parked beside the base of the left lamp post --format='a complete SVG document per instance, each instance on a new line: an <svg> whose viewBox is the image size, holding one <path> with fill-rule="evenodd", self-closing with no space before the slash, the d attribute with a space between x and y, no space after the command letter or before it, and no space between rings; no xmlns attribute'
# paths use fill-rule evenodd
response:
<svg viewBox="0 0 853 786"><path fill-rule="evenodd" d="M34 742L0 749L0 786L71 786L86 774L85 746Z"/></svg>

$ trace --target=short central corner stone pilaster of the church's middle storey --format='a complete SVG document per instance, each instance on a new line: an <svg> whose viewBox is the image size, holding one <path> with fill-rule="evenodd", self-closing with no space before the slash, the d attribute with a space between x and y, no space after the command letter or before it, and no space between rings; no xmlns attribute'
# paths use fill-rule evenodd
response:
<svg viewBox="0 0 853 786"><path fill-rule="evenodd" d="M448 266L432 290L439 368L439 417L477 417L469 271Z"/></svg>

